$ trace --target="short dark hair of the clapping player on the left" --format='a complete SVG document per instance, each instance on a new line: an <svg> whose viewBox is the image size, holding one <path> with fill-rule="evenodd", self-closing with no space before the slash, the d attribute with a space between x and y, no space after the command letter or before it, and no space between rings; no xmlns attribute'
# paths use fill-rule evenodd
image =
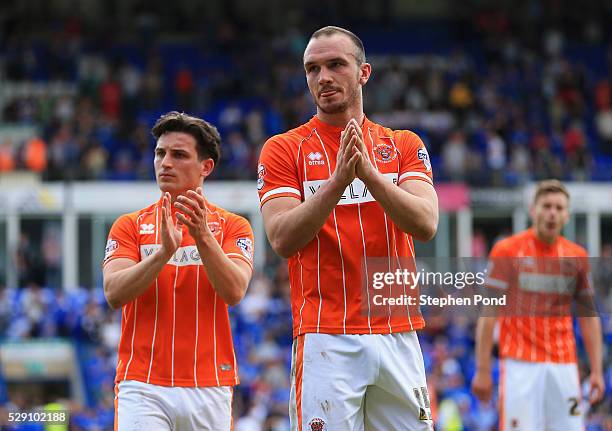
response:
<svg viewBox="0 0 612 431"><path fill-rule="evenodd" d="M183 132L196 140L198 158L204 160L210 158L215 165L221 158L221 135L217 128L208 121L192 117L184 112L171 111L159 117L151 129L155 139L159 139L165 133Z"/></svg>

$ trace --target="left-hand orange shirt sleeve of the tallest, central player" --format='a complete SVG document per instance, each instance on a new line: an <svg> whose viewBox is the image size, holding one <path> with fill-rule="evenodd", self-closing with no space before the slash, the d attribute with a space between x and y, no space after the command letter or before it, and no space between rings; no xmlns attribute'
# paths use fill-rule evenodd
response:
<svg viewBox="0 0 612 431"><path fill-rule="evenodd" d="M257 166L257 191L259 203L280 197L302 199L297 171L297 160L278 137L265 143Z"/></svg>

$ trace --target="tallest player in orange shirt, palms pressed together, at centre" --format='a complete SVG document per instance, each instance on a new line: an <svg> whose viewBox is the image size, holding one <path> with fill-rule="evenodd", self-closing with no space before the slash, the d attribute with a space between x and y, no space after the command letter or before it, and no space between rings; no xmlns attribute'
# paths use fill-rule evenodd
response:
<svg viewBox="0 0 612 431"><path fill-rule="evenodd" d="M422 316L361 308L366 258L414 257L412 237L436 232L427 150L416 134L365 117L371 66L350 31L316 31L304 69L317 113L270 138L258 166L268 238L289 258L291 428L432 429Z"/></svg>

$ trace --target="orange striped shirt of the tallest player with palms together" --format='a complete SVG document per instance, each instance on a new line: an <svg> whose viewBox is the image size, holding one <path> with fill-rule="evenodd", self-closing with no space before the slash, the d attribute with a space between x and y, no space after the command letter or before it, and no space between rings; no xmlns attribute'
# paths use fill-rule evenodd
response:
<svg viewBox="0 0 612 431"><path fill-rule="evenodd" d="M258 167L261 205L278 197L309 199L336 168L342 130L315 116L270 138ZM433 184L427 150L416 134L393 131L367 118L362 131L372 163L390 182ZM392 333L424 326L422 316L408 309L403 315L373 315L362 309L368 303L368 290L362 286L368 274L365 258L371 257L386 258L389 267L397 267L400 258L414 258L414 244L356 178L316 237L289 259L294 337L309 332Z"/></svg>

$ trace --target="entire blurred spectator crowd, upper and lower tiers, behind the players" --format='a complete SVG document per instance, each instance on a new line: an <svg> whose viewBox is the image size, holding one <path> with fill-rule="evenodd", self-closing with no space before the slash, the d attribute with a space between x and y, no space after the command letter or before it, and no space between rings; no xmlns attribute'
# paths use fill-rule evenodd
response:
<svg viewBox="0 0 612 431"><path fill-rule="evenodd" d="M365 42L373 65L366 115L418 133L436 181L612 180L612 6L605 1L435 1L439 15L409 20L393 1L173 3L0 5L0 122L14 130L0 140L0 176L152 180L150 127L177 109L219 128L213 179L254 179L267 137L313 115L302 53L312 31L333 23ZM33 133L21 138L21 130ZM60 235L45 231L36 244L27 232L20 238L19 286L0 286L0 334L74 340L87 402L71 406L73 429L112 429L120 314L99 285L59 288ZM475 255L491 245L475 237ZM612 247L605 253L612 256ZM270 254L266 262L231 311L242 381L237 431L288 429L289 283L284 261ZM494 403L479 404L469 392L474 323L436 315L420 333L440 430L496 426ZM604 332L609 346L609 315ZM610 390L609 354L607 361ZM2 384L0 398L4 413L47 402ZM587 429L612 429L610 411L608 396Z"/></svg>

